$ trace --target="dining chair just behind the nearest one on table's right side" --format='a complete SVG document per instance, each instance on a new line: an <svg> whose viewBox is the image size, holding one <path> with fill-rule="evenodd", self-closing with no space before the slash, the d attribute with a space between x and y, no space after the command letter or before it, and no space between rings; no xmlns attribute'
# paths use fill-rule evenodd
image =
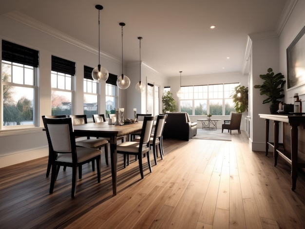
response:
<svg viewBox="0 0 305 229"><path fill-rule="evenodd" d="M163 160L163 146L161 147L161 138L163 134L164 124L165 124L166 116L165 115L158 115L157 121L154 127L154 131L151 134L149 145L152 147L153 150L153 159L154 164L157 164L157 156L158 156L158 149L161 156L161 159ZM133 141L140 141L140 137L135 138ZM149 152L147 153L149 154ZM128 161L129 163L129 161Z"/></svg>

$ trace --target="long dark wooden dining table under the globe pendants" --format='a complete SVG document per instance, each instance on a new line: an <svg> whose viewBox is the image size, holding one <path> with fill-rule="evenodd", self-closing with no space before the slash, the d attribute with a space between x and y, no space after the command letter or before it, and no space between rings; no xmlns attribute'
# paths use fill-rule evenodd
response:
<svg viewBox="0 0 305 229"><path fill-rule="evenodd" d="M142 130L143 122L129 123L125 125L102 123L86 123L74 125L74 132L76 136L90 136L90 137L103 137L110 139L110 155L111 155L111 174L112 174L112 188L113 195L116 195L116 162L117 162L117 137L129 136L135 132Z"/></svg>

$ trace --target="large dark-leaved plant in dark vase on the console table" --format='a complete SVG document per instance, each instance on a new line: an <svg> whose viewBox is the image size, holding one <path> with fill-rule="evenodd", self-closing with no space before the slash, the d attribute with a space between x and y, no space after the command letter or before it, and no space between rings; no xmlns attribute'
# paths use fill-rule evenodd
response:
<svg viewBox="0 0 305 229"><path fill-rule="evenodd" d="M280 101L278 99L284 98L284 84L286 80L283 80L284 75L281 72L274 74L273 70L269 68L267 74L260 75L260 78L264 80L262 85L255 85L254 88L260 88L261 95L267 95L267 99L263 100L263 104L271 102L270 113L276 114L279 108Z"/></svg>

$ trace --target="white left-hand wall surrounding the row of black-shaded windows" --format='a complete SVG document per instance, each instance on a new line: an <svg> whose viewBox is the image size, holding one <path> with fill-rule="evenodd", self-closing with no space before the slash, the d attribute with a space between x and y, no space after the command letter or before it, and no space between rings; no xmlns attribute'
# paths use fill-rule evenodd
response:
<svg viewBox="0 0 305 229"><path fill-rule="evenodd" d="M42 115L51 114L51 55L76 62L76 106L73 113L83 113L83 66L98 64L97 52L90 52L53 35L42 33L10 18L0 16L0 40L5 39L39 51L39 117L37 128L19 131L0 130L0 167L48 155L47 139L42 131ZM0 41L1 42L1 41ZM101 58L101 65L109 72L120 75L121 64ZM102 93L105 87L102 85ZM120 106L126 106L126 91L121 92ZM105 97L100 103L101 113L105 113Z"/></svg>

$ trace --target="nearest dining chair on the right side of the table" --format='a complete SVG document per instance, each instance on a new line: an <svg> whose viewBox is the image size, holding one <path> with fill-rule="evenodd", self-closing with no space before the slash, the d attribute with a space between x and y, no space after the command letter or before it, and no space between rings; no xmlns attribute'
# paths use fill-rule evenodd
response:
<svg viewBox="0 0 305 229"><path fill-rule="evenodd" d="M116 152L118 154L124 155L124 168L126 168L126 156L135 155L138 157L139 169L142 179L144 178L142 157L144 154L149 152L149 142L152 134L153 121L154 117L152 116L144 117L140 141L125 141L116 146ZM152 172L149 154L147 153L146 155L150 172Z"/></svg>

